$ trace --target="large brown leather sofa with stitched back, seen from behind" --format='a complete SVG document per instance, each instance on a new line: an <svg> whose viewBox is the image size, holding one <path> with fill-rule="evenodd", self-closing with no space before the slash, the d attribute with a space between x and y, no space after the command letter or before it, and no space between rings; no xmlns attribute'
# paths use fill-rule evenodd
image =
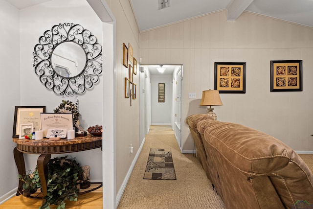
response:
<svg viewBox="0 0 313 209"><path fill-rule="evenodd" d="M192 128L199 121L197 135L192 134L195 143L202 140L202 148L196 143L197 154L227 209L313 208L313 175L288 145L255 129L201 115L186 122Z"/></svg>

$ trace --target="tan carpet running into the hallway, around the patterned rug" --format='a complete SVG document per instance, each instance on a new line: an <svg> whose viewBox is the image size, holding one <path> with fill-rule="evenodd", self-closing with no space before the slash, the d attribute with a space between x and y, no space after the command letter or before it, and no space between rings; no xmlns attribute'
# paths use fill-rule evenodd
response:
<svg viewBox="0 0 313 209"><path fill-rule="evenodd" d="M170 126L151 126L117 209L225 209L193 154L181 154ZM177 180L143 179L150 148L171 148ZM313 155L300 155L313 172Z"/></svg>

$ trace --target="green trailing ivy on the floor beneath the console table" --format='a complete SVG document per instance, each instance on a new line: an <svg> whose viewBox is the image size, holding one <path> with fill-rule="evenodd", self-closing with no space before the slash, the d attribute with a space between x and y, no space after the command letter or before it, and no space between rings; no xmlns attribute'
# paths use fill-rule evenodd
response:
<svg viewBox="0 0 313 209"><path fill-rule="evenodd" d="M74 158L69 159L65 156L50 159L48 163L47 194L44 197L46 201L40 209L50 209L50 205L57 205L57 209L65 209L66 200L77 201L79 188L77 188L76 183L80 180L82 173L82 168ZM34 180L31 175L25 175L22 181L24 182L24 190L31 190L33 187L39 188L39 185L41 187L39 178ZM33 181L36 182L35 186L34 184L28 184L28 182L32 183Z"/></svg>

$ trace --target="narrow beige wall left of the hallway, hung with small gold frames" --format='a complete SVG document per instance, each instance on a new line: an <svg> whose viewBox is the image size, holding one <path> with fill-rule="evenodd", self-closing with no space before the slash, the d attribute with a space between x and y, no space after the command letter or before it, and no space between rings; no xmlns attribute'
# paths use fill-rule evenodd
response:
<svg viewBox="0 0 313 209"><path fill-rule="evenodd" d="M133 163L139 149L139 30L134 19L129 0L107 0L116 19L116 192L118 193L123 181ZM104 37L105 38L105 37ZM128 69L123 66L123 43L130 43L134 48L137 60L137 99L125 98L125 77ZM130 152L131 144L134 152Z"/></svg>

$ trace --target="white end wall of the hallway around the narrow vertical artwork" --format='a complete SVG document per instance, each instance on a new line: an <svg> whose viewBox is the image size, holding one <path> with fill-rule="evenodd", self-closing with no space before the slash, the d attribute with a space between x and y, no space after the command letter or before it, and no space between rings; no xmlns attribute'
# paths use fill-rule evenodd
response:
<svg viewBox="0 0 313 209"><path fill-rule="evenodd" d="M165 83L165 100L158 102L158 84ZM151 125L172 125L172 75L151 75Z"/></svg>

